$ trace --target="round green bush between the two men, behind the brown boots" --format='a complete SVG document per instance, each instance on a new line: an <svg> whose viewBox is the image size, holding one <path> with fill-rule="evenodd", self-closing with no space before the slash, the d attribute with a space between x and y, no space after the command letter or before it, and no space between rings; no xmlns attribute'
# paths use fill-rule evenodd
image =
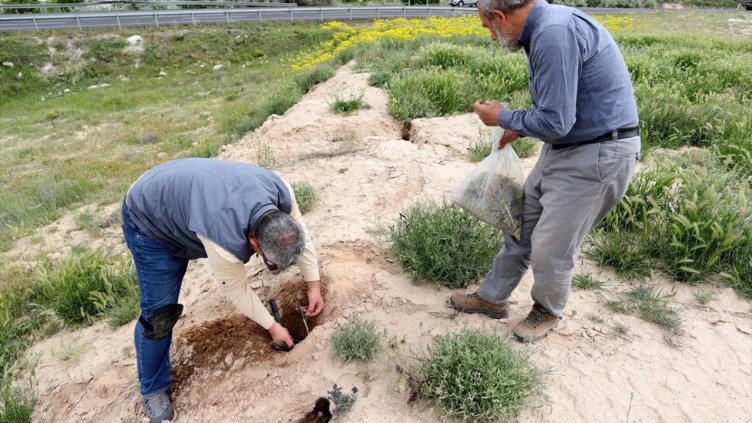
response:
<svg viewBox="0 0 752 423"><path fill-rule="evenodd" d="M390 251L413 283L465 288L484 275L501 248L501 232L454 204L418 203L389 227Z"/></svg>

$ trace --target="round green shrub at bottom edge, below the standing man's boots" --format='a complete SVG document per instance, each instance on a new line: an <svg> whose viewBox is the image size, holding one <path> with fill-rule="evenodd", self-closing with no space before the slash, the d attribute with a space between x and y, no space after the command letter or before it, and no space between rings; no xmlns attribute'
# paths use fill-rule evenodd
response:
<svg viewBox="0 0 752 423"><path fill-rule="evenodd" d="M514 421L542 388L529 352L476 329L434 338L420 368L420 396L462 421Z"/></svg>

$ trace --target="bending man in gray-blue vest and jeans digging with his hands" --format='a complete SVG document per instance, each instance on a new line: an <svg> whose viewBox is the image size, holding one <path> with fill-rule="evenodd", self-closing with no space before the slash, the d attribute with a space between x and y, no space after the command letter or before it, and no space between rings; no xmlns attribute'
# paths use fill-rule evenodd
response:
<svg viewBox="0 0 752 423"><path fill-rule="evenodd" d="M151 423L174 418L166 392L172 384L170 344L183 310L178 297L189 260L208 257L220 292L289 347L289 332L250 288L244 263L258 254L274 274L297 263L308 282L306 314L324 309L316 252L295 194L267 169L213 159L158 165L126 194L123 233L141 290L136 362Z"/></svg>

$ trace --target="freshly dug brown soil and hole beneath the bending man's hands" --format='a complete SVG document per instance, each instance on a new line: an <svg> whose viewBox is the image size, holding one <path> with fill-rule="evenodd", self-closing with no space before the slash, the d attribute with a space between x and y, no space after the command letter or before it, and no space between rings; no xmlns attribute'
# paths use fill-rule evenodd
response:
<svg viewBox="0 0 752 423"><path fill-rule="evenodd" d="M326 300L328 281L323 275L321 279L321 295ZM271 298L279 307L282 326L287 328L295 343L303 341L308 334L297 307L308 306L306 283L283 284L268 297ZM268 301L264 303L269 309ZM312 331L325 322L322 315L309 317L308 330ZM242 314L206 321L182 331L174 339L176 353L172 360L171 396L180 395L194 381L202 380L216 371L227 371L238 362L261 363L285 354L275 350L270 345L271 341L269 332Z"/></svg>

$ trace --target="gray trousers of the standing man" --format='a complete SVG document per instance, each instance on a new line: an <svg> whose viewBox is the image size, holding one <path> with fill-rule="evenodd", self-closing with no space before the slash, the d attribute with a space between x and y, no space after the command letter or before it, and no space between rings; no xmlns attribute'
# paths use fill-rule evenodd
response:
<svg viewBox="0 0 752 423"><path fill-rule="evenodd" d="M544 144L525 181L520 239L504 236L478 295L507 304L532 267L533 301L561 317L580 245L624 197L639 154L640 137L560 150Z"/></svg>

